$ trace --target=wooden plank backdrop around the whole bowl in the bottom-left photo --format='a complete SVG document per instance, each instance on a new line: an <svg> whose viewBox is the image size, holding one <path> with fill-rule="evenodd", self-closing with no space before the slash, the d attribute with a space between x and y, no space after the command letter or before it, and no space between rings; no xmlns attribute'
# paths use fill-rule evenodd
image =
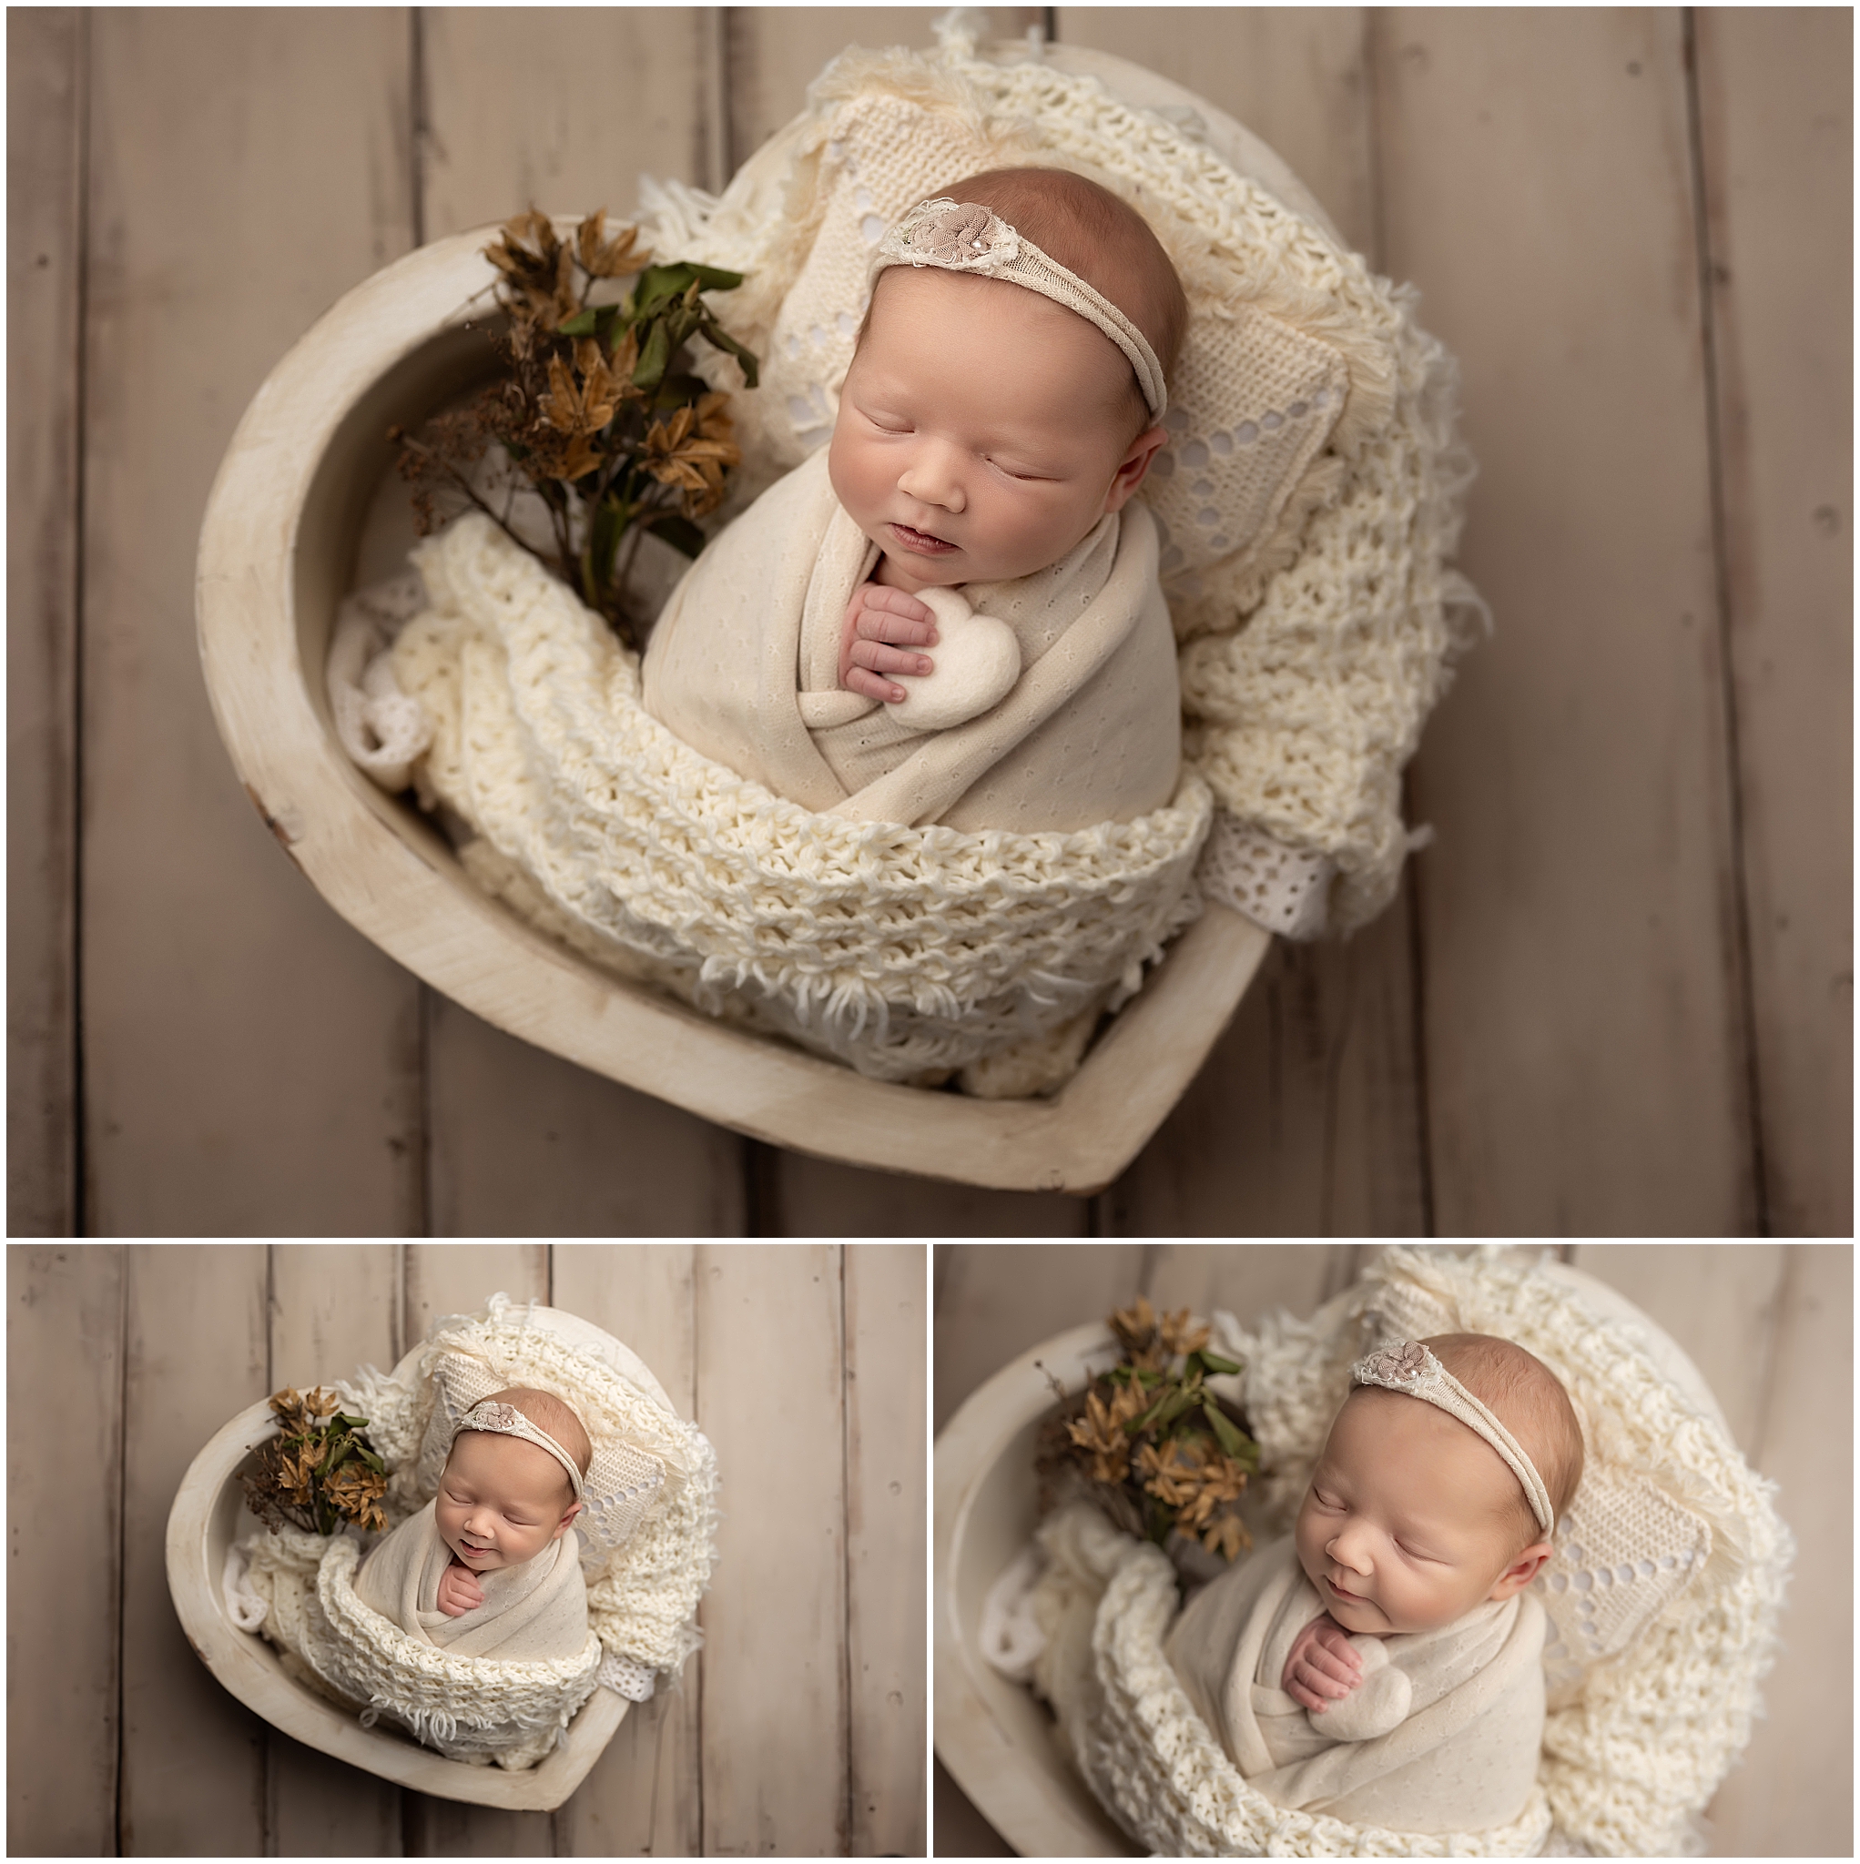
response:
<svg viewBox="0 0 1860 1864"><path fill-rule="evenodd" d="M7 1849L923 1855L924 1281L921 1243L13 1245ZM554 1814L268 1728L188 1648L162 1556L229 1417L388 1368L499 1288L639 1351L723 1480L703 1652Z"/></svg>

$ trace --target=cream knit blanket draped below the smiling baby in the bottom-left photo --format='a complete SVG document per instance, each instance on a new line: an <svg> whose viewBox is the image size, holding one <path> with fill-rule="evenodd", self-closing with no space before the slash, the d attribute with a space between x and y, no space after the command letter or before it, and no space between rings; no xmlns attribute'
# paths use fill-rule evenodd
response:
<svg viewBox="0 0 1860 1864"><path fill-rule="evenodd" d="M352 1540L274 1528L252 1542L250 1558L248 1583L268 1607L263 1631L285 1670L343 1707L360 1706L365 1726L386 1715L449 1760L533 1767L595 1693L602 1648L593 1631L563 1657L460 1655L363 1603Z"/></svg>

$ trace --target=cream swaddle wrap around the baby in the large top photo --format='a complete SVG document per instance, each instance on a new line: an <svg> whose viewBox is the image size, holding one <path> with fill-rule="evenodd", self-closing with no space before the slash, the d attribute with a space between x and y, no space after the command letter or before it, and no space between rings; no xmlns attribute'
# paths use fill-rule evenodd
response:
<svg viewBox="0 0 1860 1864"><path fill-rule="evenodd" d="M846 604L876 555L822 449L686 572L647 647L647 710L738 775L857 822L1027 835L1129 822L1174 796L1182 699L1142 505L1033 576L964 589L1014 632L1021 673L943 731L839 686Z"/></svg>

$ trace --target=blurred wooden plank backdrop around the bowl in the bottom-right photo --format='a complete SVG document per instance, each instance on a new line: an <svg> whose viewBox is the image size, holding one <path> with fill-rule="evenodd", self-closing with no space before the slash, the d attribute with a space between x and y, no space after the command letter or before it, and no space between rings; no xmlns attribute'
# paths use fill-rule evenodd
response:
<svg viewBox="0 0 1860 1864"><path fill-rule="evenodd" d="M1765 1715L1707 1817L1715 1857L1853 1857L1853 1338L1847 1243L1564 1243L1703 1372L1797 1538ZM1374 1260L1361 1243L1115 1243L936 1249L936 1424L1040 1340L1146 1294L1241 1320L1306 1316ZM1841 1661L1828 1665L1828 1652ZM939 1857L1010 1857L936 1767Z"/></svg>

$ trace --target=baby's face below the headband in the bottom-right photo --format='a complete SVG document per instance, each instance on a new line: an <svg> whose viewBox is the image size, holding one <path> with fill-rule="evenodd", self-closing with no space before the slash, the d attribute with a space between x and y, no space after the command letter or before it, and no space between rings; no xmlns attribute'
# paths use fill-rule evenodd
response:
<svg viewBox="0 0 1860 1864"><path fill-rule="evenodd" d="M1431 1631L1536 1573L1506 1514L1515 1493L1498 1452L1457 1419L1400 1392L1355 1392L1299 1508L1299 1564L1346 1631Z"/></svg>

